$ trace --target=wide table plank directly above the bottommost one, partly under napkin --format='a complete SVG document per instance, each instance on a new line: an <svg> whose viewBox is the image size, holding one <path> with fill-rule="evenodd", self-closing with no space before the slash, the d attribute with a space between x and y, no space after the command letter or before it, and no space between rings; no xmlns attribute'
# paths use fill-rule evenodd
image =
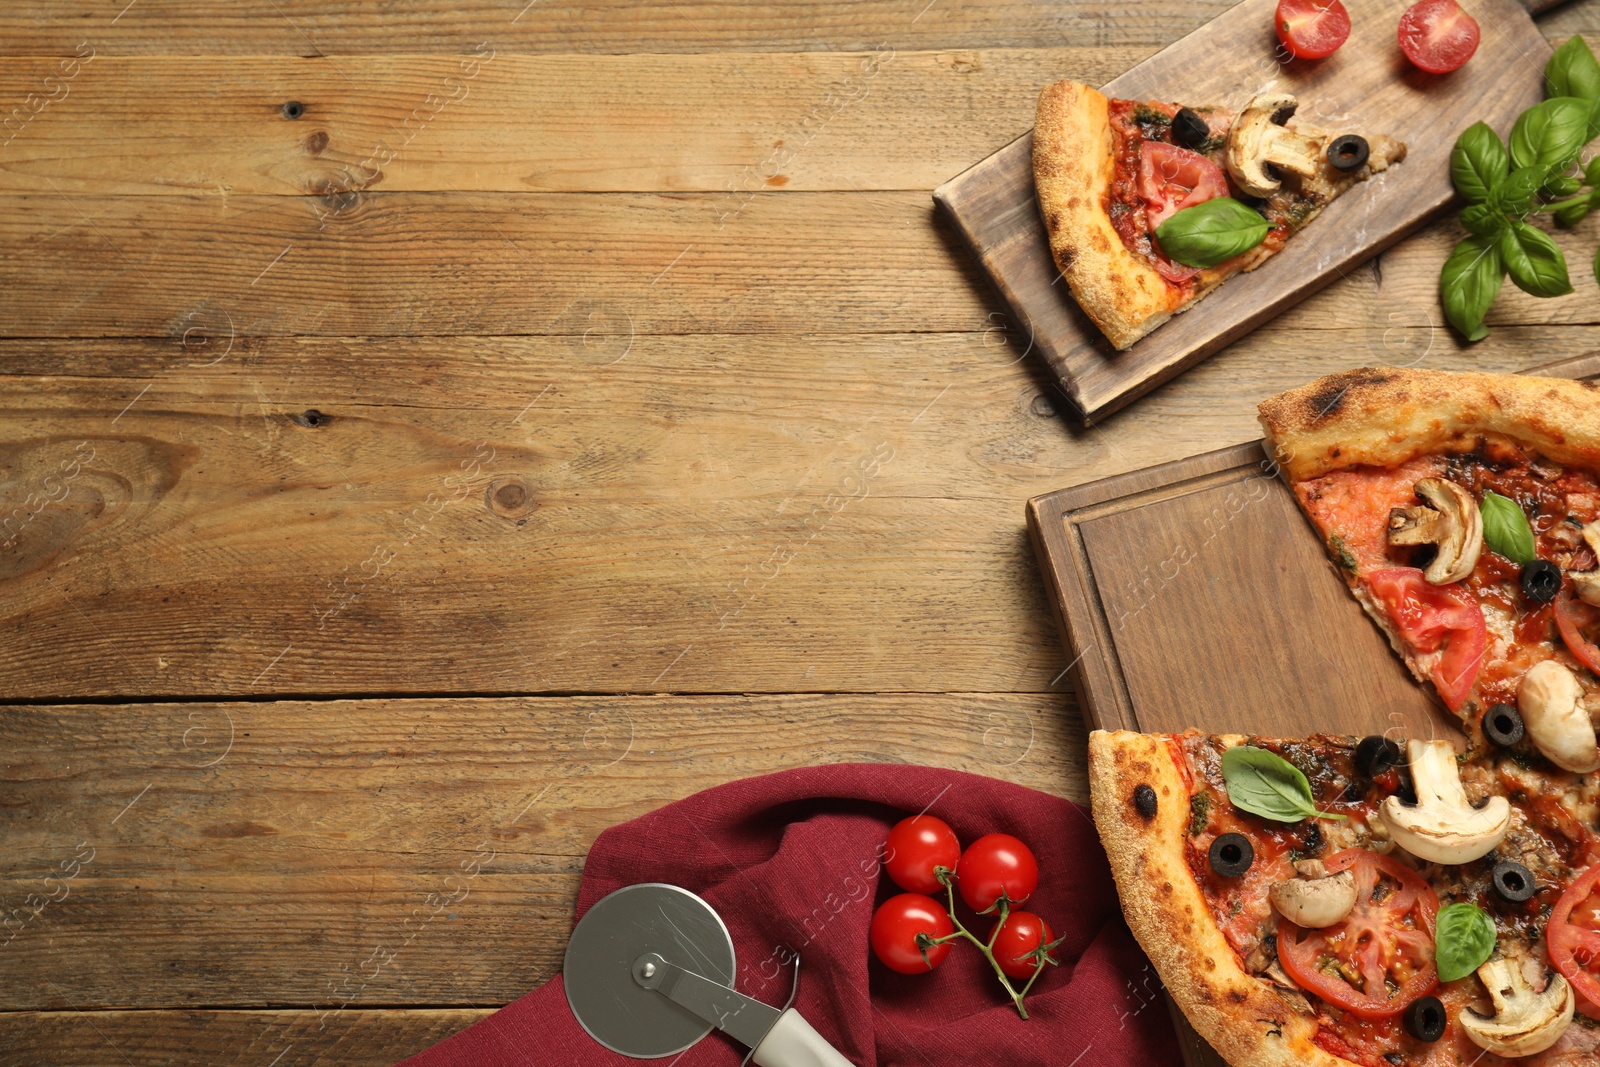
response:
<svg viewBox="0 0 1600 1067"><path fill-rule="evenodd" d="M595 835L714 784L886 760L1086 797L1062 694L11 707L0 745L8 1009L496 1005L560 968Z"/></svg>

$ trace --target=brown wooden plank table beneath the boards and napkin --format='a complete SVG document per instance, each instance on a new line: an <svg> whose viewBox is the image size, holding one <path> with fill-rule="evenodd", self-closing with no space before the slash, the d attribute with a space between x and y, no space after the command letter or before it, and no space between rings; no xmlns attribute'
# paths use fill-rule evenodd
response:
<svg viewBox="0 0 1600 1067"><path fill-rule="evenodd" d="M1440 222L1074 429L928 190L1224 6L13 5L0 1062L389 1064L746 774L1083 800L1026 499L1600 347L1576 267L1459 347Z"/></svg>

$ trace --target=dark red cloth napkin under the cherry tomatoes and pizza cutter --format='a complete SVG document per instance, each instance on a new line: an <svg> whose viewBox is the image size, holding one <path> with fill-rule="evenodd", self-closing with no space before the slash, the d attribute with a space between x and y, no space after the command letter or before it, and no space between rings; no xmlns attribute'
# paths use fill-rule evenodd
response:
<svg viewBox="0 0 1600 1067"><path fill-rule="evenodd" d="M1029 910L1066 941L1018 1017L976 949L957 944L933 974L894 974L867 945L878 902L899 893L880 872L888 829L926 809L962 845L990 832L1038 856ZM840 763L709 789L611 827L584 864L578 915L626 885L669 881L706 897L733 934L739 992L795 1008L861 1067L1178 1064L1160 982L1117 905L1090 814L1078 805L976 774ZM958 912L968 921L966 912ZM976 925L973 925L976 923ZM968 921L986 936L990 920ZM746 1049L720 1032L675 1067L738 1067ZM626 1067L566 1006L560 976L405 1067Z"/></svg>

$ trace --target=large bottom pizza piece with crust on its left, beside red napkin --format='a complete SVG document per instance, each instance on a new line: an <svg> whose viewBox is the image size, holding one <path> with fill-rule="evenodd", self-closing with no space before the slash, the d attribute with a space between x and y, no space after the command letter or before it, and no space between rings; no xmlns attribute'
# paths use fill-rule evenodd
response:
<svg viewBox="0 0 1600 1067"><path fill-rule="evenodd" d="M1234 1067L1600 1062L1594 774L1094 731L1090 790L1130 928Z"/></svg>

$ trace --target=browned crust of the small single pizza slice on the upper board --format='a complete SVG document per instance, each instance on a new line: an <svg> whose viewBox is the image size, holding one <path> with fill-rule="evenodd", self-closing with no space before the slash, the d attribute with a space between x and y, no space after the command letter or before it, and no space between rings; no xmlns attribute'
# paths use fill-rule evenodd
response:
<svg viewBox="0 0 1600 1067"><path fill-rule="evenodd" d="M1171 318L1182 298L1112 227L1112 173L1106 96L1072 80L1046 85L1034 123L1034 187L1050 253L1083 314L1126 349Z"/></svg>

